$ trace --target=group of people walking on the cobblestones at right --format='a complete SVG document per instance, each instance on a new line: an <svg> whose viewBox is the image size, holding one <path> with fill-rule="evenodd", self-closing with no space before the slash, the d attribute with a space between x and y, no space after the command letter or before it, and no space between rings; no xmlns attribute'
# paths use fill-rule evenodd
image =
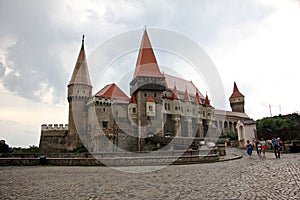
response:
<svg viewBox="0 0 300 200"><path fill-rule="evenodd" d="M267 142L266 140L262 137L260 140L257 140L255 142L256 144L256 151L257 151L257 155L259 157L263 157L265 158L265 155L266 155L266 149L267 149ZM274 154L275 154L275 157L276 158L280 158L281 156L281 150L282 150L282 145L283 145L283 142L282 140L280 140L280 138L275 138L273 137L272 139L272 144L273 144L273 149L274 149ZM252 150L253 150L253 146L252 144L250 143L249 140L247 140L247 154L249 157L252 156Z"/></svg>

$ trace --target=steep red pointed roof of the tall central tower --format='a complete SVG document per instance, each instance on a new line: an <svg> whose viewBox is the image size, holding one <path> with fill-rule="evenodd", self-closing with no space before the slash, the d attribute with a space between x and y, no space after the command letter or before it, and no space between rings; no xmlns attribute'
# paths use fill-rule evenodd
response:
<svg viewBox="0 0 300 200"><path fill-rule="evenodd" d="M133 79L137 76L164 77L159 70L146 28L144 29Z"/></svg>

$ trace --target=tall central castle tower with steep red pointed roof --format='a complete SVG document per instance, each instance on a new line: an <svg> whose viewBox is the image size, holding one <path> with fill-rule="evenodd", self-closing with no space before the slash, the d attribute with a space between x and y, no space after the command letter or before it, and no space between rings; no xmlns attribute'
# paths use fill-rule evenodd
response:
<svg viewBox="0 0 300 200"><path fill-rule="evenodd" d="M147 134L162 133L162 92L165 89L165 76L159 70L145 29L134 75L130 82L130 95L136 99L137 114L133 119L139 127L137 136L139 140ZM142 141L138 141L138 144L142 146Z"/></svg>

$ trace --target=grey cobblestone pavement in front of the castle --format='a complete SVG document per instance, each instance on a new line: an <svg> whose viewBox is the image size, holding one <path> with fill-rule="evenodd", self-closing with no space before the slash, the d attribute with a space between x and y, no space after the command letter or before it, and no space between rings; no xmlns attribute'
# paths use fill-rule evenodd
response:
<svg viewBox="0 0 300 200"><path fill-rule="evenodd" d="M0 199L300 199L300 154L153 167L0 167Z"/></svg>

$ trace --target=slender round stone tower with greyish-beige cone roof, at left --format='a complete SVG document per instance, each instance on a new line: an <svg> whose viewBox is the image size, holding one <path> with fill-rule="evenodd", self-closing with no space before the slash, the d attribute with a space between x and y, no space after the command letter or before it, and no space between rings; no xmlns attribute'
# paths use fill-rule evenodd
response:
<svg viewBox="0 0 300 200"><path fill-rule="evenodd" d="M68 84L69 132L66 139L67 150L80 147L82 145L81 139L84 139L87 134L88 109L86 103L91 96L92 85L86 62L83 35L81 49Z"/></svg>

